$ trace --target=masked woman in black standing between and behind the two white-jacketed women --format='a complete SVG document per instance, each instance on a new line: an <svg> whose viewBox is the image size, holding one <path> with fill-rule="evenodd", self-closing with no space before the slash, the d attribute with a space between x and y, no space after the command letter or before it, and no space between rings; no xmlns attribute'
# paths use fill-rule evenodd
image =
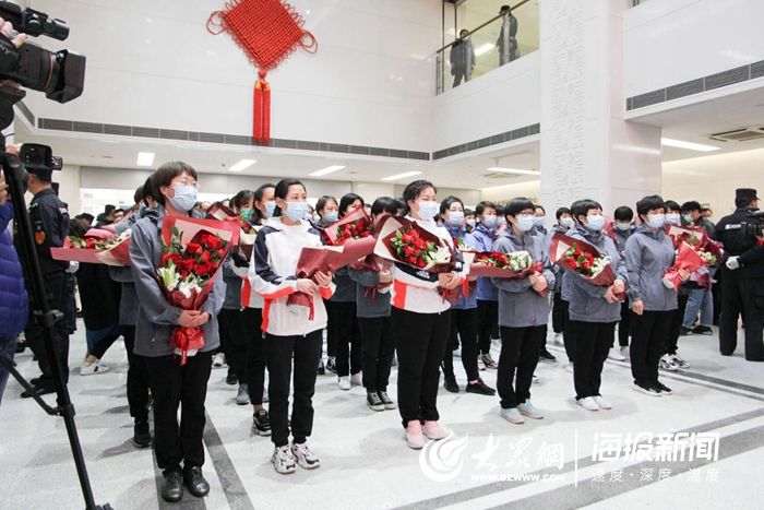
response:
<svg viewBox="0 0 764 510"><path fill-rule="evenodd" d="M348 193L339 199L339 217L363 206L363 199ZM336 342L337 386L347 391L351 386L361 386L361 334L356 317L356 283L350 280L347 266L334 273L337 289L330 307L331 324Z"/></svg>

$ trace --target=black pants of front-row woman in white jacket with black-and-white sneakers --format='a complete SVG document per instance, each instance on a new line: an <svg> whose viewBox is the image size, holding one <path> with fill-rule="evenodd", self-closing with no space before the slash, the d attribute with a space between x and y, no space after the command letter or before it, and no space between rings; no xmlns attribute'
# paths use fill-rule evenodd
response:
<svg viewBox="0 0 764 510"><path fill-rule="evenodd" d="M294 441L305 442L313 431L313 394L321 356L323 331L306 336L276 336L265 333L268 371L271 440L276 447L289 444L289 386L295 363L291 431Z"/></svg>

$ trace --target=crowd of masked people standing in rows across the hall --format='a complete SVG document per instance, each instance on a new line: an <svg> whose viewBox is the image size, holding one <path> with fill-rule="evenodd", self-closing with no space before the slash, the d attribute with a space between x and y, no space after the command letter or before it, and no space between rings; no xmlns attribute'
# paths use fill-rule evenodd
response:
<svg viewBox="0 0 764 510"><path fill-rule="evenodd" d="M153 446L165 475L162 495L168 501L180 500L183 487L198 497L210 490L202 473L202 434L207 381L215 366L227 364L226 380L237 387L236 403L252 406L252 431L271 438L274 469L288 474L297 465L307 470L321 465L308 439L317 377L323 373L336 376L338 391L362 387L373 412L397 408L411 449L450 434L438 410L441 373L449 392L489 398L487 405L498 393L500 414L512 424L544 418L530 390L539 360L556 360L546 347L550 315L554 334L549 336L564 345L575 400L589 412L612 407L602 391L608 356L629 358L635 391L649 396L671 394L660 371L689 367L678 353L679 339L712 333L719 308L721 354L735 352L742 312L745 357L764 360L764 246L739 228L759 206L755 190L738 190L737 211L717 226L703 216L695 201L679 205L649 195L635 204L635 211L628 205L616 209L611 223L596 200L576 200L556 211L547 232L545 209L527 198L502 204L481 201L470 210L457 197L439 199L435 186L416 180L401 198L380 197L369 203L348 193L339 200L321 197L313 207L306 186L286 178L242 190L227 201L256 230L251 256L231 252L202 308L184 310L167 300L156 274L166 218L199 216L210 205L199 202L201 176L190 165L160 166L135 191L135 206L121 221L119 211L111 209L97 218L95 228L116 222L116 232L132 232L131 265L108 269L51 258L51 247L61 246L70 234L84 234L94 218L80 215L70 222L65 204L51 188L50 171L28 171L37 256L51 306L64 311L64 319L56 323L64 377L69 375L69 335L75 329L76 283L87 342L80 373L108 370L102 357L117 339L124 339L133 443ZM16 335L25 328L25 342L41 372L32 382L36 393L46 394L55 391L52 360L43 348L41 328L27 320L22 272L5 232L12 211L3 188L0 181L0 276L21 285L0 286L1 351L12 355ZM391 216L405 216L438 238L453 250L450 269L433 273L395 263L379 271L346 266L312 278L297 277L301 250L321 247L325 242L321 229L359 207L367 209L374 226ZM683 282L679 292L664 284L676 257L667 225L702 228L724 245L727 257L716 268L723 285L716 304L714 290L692 285L687 271L679 272ZM614 282L590 285L552 264L549 252L556 233L606 254ZM459 250L524 251L539 269L522 278L474 277ZM389 290L380 290L381 285L389 285ZM444 292L456 293L457 298L445 299ZM295 293L312 297L310 310L289 305ZM204 346L183 365L168 341L177 325L201 328L204 333ZM498 360L491 355L493 340L501 343ZM456 349L466 373L462 386L454 371ZM394 366L397 394L391 395ZM496 389L482 380L485 370L497 370ZM0 395L5 379L7 373L0 376Z"/></svg>

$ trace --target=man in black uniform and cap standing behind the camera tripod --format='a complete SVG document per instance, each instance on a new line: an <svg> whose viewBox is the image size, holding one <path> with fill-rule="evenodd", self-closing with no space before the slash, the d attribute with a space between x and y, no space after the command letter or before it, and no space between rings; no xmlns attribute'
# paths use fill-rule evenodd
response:
<svg viewBox="0 0 764 510"><path fill-rule="evenodd" d="M45 290L48 296L48 305L52 310L63 312L65 310L65 274L64 271L69 268L69 262L53 260L50 256L50 248L63 246L63 240L69 235L69 212L67 206L53 191L51 186L52 169L49 167L28 165L26 170L29 174L28 188L34 194L29 202L29 221L32 223L32 234L34 236L37 258L39 259L40 269L43 270L43 281ZM19 236L14 236L19 240ZM16 250L21 253L21 247L16 246ZM29 287L29 278L25 275L27 289ZM32 297L32 293L28 293ZM32 348L32 352L37 356L39 369L43 375L32 382L38 394L53 393L52 372L50 371L51 359L48 359L45 351L45 335L43 328L32 317L32 310L37 307L34 303L29 304L29 321L24 330L26 341ZM60 319L56 322L56 348L61 361L61 370L64 381L69 380L69 332L65 325L65 319ZM27 392L22 393L22 396L32 396Z"/></svg>

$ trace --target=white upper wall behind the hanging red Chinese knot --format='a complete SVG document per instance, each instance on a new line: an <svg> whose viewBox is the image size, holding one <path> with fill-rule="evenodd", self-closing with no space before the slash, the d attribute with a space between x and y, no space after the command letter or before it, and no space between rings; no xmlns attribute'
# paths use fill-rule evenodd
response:
<svg viewBox="0 0 764 510"><path fill-rule="evenodd" d="M252 132L256 69L206 22L224 0L34 0L87 56L83 96L29 94L38 117L190 131ZM272 137L427 151L440 0L291 0L315 36L268 73ZM45 41L49 48L64 47Z"/></svg>

